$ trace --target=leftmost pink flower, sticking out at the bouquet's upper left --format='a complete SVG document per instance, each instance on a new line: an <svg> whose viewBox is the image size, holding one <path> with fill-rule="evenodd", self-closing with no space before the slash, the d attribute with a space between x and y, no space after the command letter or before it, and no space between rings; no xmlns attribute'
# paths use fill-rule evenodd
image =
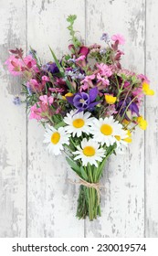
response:
<svg viewBox="0 0 158 256"><path fill-rule="evenodd" d="M14 76L20 76L24 70L21 60L14 55L11 55L9 59L6 59L5 65L7 65L7 69Z"/></svg>

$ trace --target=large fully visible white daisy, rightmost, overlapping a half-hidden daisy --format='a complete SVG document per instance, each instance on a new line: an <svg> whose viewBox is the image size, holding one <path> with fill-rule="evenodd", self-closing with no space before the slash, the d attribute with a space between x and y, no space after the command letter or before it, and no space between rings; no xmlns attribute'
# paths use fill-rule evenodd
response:
<svg viewBox="0 0 158 256"><path fill-rule="evenodd" d="M126 135L123 132L121 123L115 121L112 116L105 117L104 119L100 118L100 120L95 119L91 129L94 140L101 145L106 144L110 146L117 141L115 136L123 137Z"/></svg>

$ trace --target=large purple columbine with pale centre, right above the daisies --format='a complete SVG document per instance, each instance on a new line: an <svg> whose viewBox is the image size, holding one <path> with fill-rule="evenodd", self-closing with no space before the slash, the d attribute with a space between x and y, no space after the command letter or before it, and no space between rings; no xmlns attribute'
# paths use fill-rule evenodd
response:
<svg viewBox="0 0 158 256"><path fill-rule="evenodd" d="M78 92L72 97L67 97L70 104L74 105L78 112L83 112L85 110L93 111L94 107L99 103L95 101L98 95L98 88L92 88L89 94L86 92Z"/></svg>

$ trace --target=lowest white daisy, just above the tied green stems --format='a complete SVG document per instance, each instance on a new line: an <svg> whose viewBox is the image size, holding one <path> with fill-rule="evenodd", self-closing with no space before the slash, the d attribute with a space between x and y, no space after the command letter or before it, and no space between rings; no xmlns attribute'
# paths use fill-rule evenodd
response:
<svg viewBox="0 0 158 256"><path fill-rule="evenodd" d="M93 139L88 141L84 138L80 145L81 146L77 146L78 150L73 152L74 155L77 155L74 160L81 159L82 164L85 166L90 164L98 167L97 161L101 162L102 158L105 157L105 150L100 148L100 144L95 142Z"/></svg>

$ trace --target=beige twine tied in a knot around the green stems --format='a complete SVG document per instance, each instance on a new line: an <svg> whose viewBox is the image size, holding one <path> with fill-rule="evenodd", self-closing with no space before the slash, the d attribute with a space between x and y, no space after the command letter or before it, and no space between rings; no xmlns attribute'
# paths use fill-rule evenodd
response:
<svg viewBox="0 0 158 256"><path fill-rule="evenodd" d="M72 181L71 179L68 179L68 182L71 183L71 184L79 184L79 185L83 185L85 187L90 187L90 188L96 189L97 197L98 197L98 205L100 204L100 195L102 196L102 194L100 192L100 188L104 187L104 186L100 185L99 182L97 182L97 183L90 183L90 182L82 179L80 176L79 176L79 181Z"/></svg>

